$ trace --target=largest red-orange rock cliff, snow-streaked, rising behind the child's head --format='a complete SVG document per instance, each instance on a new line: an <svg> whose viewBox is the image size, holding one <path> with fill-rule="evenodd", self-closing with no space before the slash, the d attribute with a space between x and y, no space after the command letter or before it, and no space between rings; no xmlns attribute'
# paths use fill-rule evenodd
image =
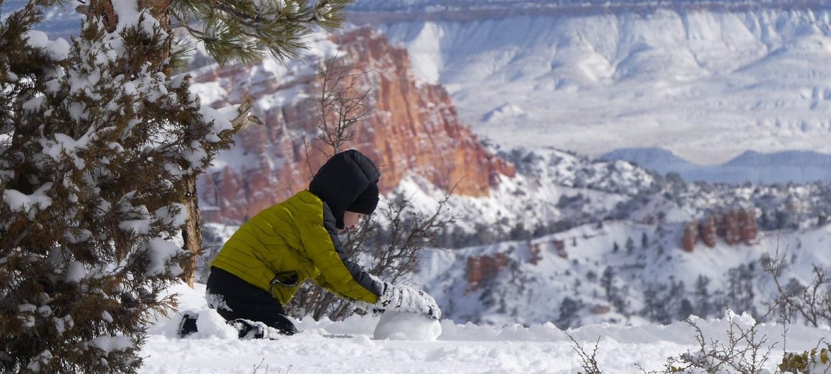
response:
<svg viewBox="0 0 831 374"><path fill-rule="evenodd" d="M455 194L483 197L497 184L499 175L514 176L511 165L488 153L460 123L442 87L413 79L405 49L391 46L386 36L370 27L333 41L341 46L345 74L354 76L357 90L370 90L372 95L367 102L369 113L343 149L356 148L376 161L382 174L381 192L390 192L412 173L437 187L453 188ZM311 73L251 83L252 70L257 69L232 66L199 75L195 81L215 80L233 87L250 84L248 93L255 101L281 90L309 97L320 91L317 76ZM234 100L210 104L223 106L226 101ZM315 135L318 110L313 100L255 110L265 125L238 134L231 151L234 157L225 158L237 164L217 168L199 183L203 205L214 206L216 211L205 220L243 221L305 189L327 158L320 151L326 147ZM303 136L310 139L309 146L304 145Z"/></svg>

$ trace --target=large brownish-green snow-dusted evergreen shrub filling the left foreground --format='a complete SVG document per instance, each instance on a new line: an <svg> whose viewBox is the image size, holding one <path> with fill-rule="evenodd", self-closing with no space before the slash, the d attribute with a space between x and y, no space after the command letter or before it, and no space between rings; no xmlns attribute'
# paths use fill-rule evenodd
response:
<svg viewBox="0 0 831 374"><path fill-rule="evenodd" d="M70 46L29 30L48 5L0 23L0 372L135 372L182 271L184 187L231 124L168 76L146 12Z"/></svg>

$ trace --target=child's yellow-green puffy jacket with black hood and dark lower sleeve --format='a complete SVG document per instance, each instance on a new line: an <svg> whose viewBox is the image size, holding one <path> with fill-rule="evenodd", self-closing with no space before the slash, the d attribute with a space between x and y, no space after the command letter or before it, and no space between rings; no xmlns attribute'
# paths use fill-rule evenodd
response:
<svg viewBox="0 0 831 374"><path fill-rule="evenodd" d="M268 291L281 304L288 304L306 279L342 298L375 304L383 283L347 258L337 229L347 206L380 175L361 153L330 159L312 180L315 193L298 192L260 211L231 236L211 266Z"/></svg>

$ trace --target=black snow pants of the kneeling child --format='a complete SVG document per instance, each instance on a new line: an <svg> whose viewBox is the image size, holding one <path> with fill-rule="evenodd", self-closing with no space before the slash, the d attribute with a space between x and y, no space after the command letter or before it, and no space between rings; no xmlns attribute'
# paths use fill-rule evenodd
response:
<svg viewBox="0 0 831 374"><path fill-rule="evenodd" d="M278 299L234 274L211 267L206 292L209 306L216 309L225 321L239 330L240 338L263 338L264 332L252 332L256 326L245 320L265 323L270 328L278 329L283 335L297 333L297 328L286 317L286 312ZM253 333L253 336L249 333Z"/></svg>

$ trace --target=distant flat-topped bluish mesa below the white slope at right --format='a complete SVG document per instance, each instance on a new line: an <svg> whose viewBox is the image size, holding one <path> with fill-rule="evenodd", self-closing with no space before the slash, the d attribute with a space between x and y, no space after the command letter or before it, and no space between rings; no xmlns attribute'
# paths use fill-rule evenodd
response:
<svg viewBox="0 0 831 374"><path fill-rule="evenodd" d="M813 151L746 151L721 165L691 163L664 148L621 148L601 156L623 160L666 176L676 172L688 182L741 184L831 182L831 154Z"/></svg>

